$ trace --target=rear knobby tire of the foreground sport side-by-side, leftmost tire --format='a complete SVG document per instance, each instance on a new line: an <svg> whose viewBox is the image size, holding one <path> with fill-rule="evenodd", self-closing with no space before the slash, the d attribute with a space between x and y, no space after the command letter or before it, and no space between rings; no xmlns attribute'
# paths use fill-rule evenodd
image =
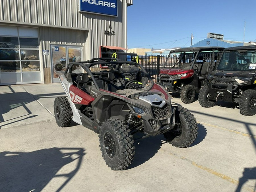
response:
<svg viewBox="0 0 256 192"><path fill-rule="evenodd" d="M54 116L59 127L68 127L72 119L72 109L66 97L57 97L54 100Z"/></svg>

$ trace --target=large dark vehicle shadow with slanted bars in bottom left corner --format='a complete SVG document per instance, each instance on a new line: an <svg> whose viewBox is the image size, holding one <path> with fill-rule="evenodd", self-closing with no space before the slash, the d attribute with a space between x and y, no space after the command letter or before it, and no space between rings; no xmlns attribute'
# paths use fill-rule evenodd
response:
<svg viewBox="0 0 256 192"><path fill-rule="evenodd" d="M32 152L1 152L0 191L42 191L52 179L56 187L52 190L61 191L79 170L84 151L54 147ZM61 170L71 162L74 163Z"/></svg>

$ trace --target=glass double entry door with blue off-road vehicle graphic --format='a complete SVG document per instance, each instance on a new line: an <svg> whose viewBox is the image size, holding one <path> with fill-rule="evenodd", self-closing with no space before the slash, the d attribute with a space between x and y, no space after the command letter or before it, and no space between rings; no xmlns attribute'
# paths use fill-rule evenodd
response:
<svg viewBox="0 0 256 192"><path fill-rule="evenodd" d="M58 77L65 72L69 62L81 61L81 50L81 47L74 46L51 46L51 71L54 83L59 82ZM74 66L72 71L81 73L81 67Z"/></svg>

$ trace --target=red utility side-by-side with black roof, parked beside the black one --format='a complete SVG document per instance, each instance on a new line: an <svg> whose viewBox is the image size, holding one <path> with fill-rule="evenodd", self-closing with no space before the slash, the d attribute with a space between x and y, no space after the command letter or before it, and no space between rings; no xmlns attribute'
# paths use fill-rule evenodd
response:
<svg viewBox="0 0 256 192"><path fill-rule="evenodd" d="M159 83L168 91L180 93L183 103L194 101L195 93L203 86L212 71L222 47L180 48L170 51L164 69L160 70ZM172 68L167 68L170 57L176 56ZM178 57L177 57L178 55Z"/></svg>

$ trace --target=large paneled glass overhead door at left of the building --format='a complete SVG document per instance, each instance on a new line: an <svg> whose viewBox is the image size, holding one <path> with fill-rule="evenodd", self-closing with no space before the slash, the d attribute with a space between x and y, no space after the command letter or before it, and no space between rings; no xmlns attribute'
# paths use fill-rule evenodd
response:
<svg viewBox="0 0 256 192"><path fill-rule="evenodd" d="M0 85L41 82L38 28L0 25Z"/></svg>

